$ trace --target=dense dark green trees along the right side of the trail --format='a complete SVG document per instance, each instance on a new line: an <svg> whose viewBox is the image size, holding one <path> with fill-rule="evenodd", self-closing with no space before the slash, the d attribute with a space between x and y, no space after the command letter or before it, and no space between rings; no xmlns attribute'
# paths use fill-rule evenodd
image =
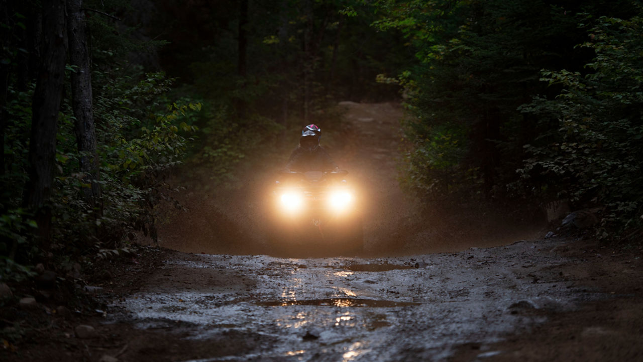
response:
<svg viewBox="0 0 643 362"><path fill-rule="evenodd" d="M640 230L637 2L376 4L384 16L374 26L402 32L419 61L379 77L404 86L413 116L408 189L423 199L567 198L605 206L600 236Z"/></svg>

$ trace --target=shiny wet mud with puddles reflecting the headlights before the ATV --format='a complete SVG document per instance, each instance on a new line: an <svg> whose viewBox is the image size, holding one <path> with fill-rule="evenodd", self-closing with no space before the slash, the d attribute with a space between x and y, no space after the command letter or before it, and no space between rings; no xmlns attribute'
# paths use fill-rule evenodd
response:
<svg viewBox="0 0 643 362"><path fill-rule="evenodd" d="M115 302L111 323L232 345L252 336L250 350L203 361L446 361L604 296L560 275L560 243L386 260L181 255Z"/></svg>

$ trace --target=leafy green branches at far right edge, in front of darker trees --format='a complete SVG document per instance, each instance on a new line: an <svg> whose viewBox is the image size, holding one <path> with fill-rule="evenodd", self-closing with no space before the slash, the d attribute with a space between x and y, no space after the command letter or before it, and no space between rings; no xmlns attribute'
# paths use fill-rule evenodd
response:
<svg viewBox="0 0 643 362"><path fill-rule="evenodd" d="M604 230L641 226L642 31L640 17L600 17L582 45L595 51L586 64L590 73L543 71L541 80L561 92L521 107L536 114L547 131L525 145L530 158L519 172L541 180L545 193L606 206ZM604 230L599 236L613 236Z"/></svg>

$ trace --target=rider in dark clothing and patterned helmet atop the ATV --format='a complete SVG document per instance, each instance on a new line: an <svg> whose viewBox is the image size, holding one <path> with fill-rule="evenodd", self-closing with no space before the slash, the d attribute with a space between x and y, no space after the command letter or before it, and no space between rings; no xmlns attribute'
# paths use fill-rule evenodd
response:
<svg viewBox="0 0 643 362"><path fill-rule="evenodd" d="M337 171L339 168L332 160L331 155L320 146L321 129L310 124L302 129L299 147L290 155L287 171Z"/></svg>

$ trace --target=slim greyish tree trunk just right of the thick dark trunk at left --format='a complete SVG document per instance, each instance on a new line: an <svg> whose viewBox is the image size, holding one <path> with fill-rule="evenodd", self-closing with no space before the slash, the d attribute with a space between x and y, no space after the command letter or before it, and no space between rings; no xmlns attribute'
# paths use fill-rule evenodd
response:
<svg viewBox="0 0 643 362"><path fill-rule="evenodd" d="M96 152L96 131L92 109L91 72L89 69L89 46L87 46L87 24L82 0L68 0L69 59L77 71L71 73L72 107L75 133L80 152L80 172L84 183L90 184L83 190L85 202L100 215L102 212L100 190L100 160Z"/></svg>

